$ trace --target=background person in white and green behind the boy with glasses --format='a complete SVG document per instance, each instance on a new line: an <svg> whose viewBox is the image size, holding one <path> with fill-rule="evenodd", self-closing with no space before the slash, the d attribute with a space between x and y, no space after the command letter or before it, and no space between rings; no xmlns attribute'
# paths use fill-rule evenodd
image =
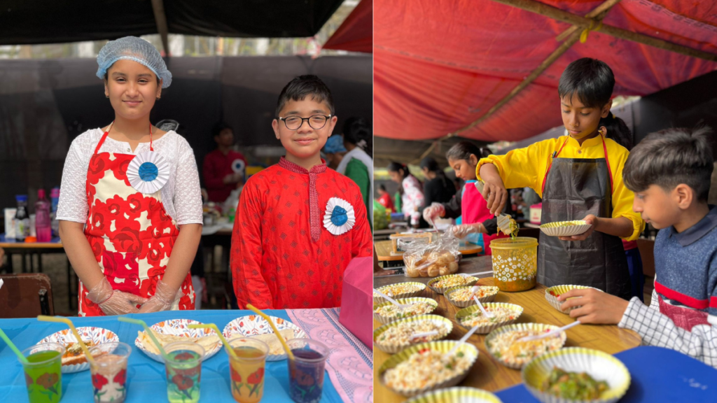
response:
<svg viewBox="0 0 717 403"><path fill-rule="evenodd" d="M369 224L374 225L374 135L366 118L351 117L343 123L343 146L348 153L341 159L336 172L348 176L361 189L364 205L369 214Z"/></svg>

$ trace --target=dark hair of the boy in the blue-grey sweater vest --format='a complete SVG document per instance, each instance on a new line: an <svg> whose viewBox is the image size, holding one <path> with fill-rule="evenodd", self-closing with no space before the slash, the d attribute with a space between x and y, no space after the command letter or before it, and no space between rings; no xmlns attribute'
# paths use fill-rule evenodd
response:
<svg viewBox="0 0 717 403"><path fill-rule="evenodd" d="M657 185L672 191L690 186L700 201L707 201L714 169L711 128L670 128L651 133L633 148L625 161L622 179L631 191Z"/></svg>

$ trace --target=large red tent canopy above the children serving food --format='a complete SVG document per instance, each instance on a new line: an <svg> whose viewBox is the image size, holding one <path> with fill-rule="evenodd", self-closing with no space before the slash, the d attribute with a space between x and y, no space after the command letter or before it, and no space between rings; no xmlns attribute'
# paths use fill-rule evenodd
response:
<svg viewBox="0 0 717 403"><path fill-rule="evenodd" d="M542 2L584 16L603 1ZM717 54L717 1L623 0L603 21ZM375 27L374 133L416 140L446 136L485 115L560 46L556 36L571 25L490 0L378 0ZM613 95L655 93L717 68L593 31L460 136L518 141L561 125L558 80L581 57L612 67Z"/></svg>

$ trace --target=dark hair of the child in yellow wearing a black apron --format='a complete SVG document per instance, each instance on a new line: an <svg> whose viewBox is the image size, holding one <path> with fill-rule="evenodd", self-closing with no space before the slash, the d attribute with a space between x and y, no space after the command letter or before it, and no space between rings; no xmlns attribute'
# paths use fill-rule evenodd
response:
<svg viewBox="0 0 717 403"><path fill-rule="evenodd" d="M612 97L615 76L605 63L583 57L568 65L560 76L560 99L575 95L587 108L602 108Z"/></svg>

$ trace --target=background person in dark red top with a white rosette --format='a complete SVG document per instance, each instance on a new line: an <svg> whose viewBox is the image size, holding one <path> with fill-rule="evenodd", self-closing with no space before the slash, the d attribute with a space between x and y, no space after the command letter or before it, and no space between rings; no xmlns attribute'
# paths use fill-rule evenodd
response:
<svg viewBox="0 0 717 403"><path fill-rule="evenodd" d="M217 142L217 149L206 154L201 173L209 201L224 203L232 190L244 184L247 158L232 149L234 129L227 123L218 123L212 134Z"/></svg>

